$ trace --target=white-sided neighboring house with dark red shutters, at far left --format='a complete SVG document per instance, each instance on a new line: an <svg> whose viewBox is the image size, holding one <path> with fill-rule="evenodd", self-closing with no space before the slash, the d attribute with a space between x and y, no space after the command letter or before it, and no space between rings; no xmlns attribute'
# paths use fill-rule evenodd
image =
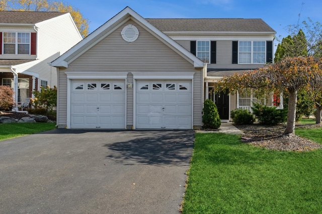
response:
<svg viewBox="0 0 322 214"><path fill-rule="evenodd" d="M0 84L15 102L57 85L51 61L82 40L69 13L0 11Z"/></svg>

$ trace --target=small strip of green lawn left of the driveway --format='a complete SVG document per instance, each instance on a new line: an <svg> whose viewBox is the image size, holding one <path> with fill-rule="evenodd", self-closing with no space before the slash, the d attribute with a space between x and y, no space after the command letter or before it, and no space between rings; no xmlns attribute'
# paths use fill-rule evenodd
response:
<svg viewBox="0 0 322 214"><path fill-rule="evenodd" d="M0 141L55 129L56 123L0 124Z"/></svg>

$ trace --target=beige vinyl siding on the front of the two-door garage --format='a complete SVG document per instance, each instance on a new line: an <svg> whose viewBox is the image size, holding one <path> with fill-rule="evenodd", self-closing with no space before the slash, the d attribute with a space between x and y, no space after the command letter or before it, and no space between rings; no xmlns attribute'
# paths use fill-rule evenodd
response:
<svg viewBox="0 0 322 214"><path fill-rule="evenodd" d="M136 41L128 43L121 37L124 26L132 24L139 30ZM117 30L104 38L98 44L87 50L68 65L61 72L128 72L127 82L133 83L132 72L160 72L167 77L167 72L195 72L194 75L194 124L201 126L202 112L202 72L194 69L192 63L188 62L174 50L159 39L155 38L140 25L130 20L120 26ZM66 82L61 82L66 84ZM60 85L60 87L66 87ZM127 88L126 125L133 125L133 88ZM65 95L65 94L63 94ZM60 106L63 108L63 106ZM64 107L66 108L66 106ZM66 123L66 113L59 110L59 122Z"/></svg>

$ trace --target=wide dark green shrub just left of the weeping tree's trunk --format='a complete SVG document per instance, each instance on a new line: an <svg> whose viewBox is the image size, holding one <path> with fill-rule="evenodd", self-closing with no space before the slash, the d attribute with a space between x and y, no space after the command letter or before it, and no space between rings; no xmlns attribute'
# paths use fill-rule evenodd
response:
<svg viewBox="0 0 322 214"><path fill-rule="evenodd" d="M266 106L259 103L253 103L253 114L260 124L277 125L286 122L287 109L276 109L276 106Z"/></svg>

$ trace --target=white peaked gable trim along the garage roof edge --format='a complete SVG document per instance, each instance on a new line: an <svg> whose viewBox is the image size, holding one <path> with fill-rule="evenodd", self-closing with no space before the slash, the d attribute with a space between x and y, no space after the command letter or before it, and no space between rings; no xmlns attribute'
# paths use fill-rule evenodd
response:
<svg viewBox="0 0 322 214"><path fill-rule="evenodd" d="M126 7L123 11L115 15L112 19L107 21L101 27L96 29L93 33L91 33L84 40L76 44L74 47L69 49L67 52L59 56L57 59L51 62L52 66L55 67L68 67L68 64L71 63L74 59L76 59L81 54L85 53L88 49L93 47L95 44L106 38L114 29L118 28L122 23L127 22L128 20L134 20L138 24L140 24L145 30L149 31L156 38L162 41L164 44L168 45L172 50L177 52L179 55L184 57L186 60L191 62L194 67L203 68L204 63L197 58L195 55L190 53L184 47L179 45L177 42L172 40L169 36L164 34L162 31L155 28L149 22L147 22L143 17L138 15L131 8Z"/></svg>

